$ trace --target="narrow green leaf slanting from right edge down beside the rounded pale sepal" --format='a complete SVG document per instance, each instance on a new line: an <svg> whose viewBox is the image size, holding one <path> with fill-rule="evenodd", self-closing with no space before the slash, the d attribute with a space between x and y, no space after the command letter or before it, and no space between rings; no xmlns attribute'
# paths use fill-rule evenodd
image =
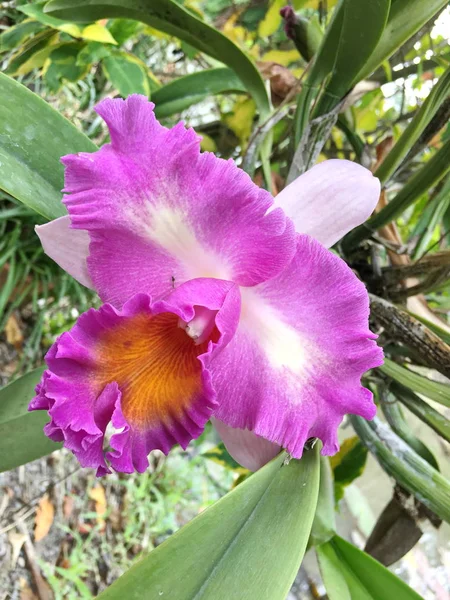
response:
<svg viewBox="0 0 450 600"><path fill-rule="evenodd" d="M416 172L415 175L403 186L398 194L380 210L366 221L347 234L343 241L345 251L353 250L360 242L365 240L380 227L384 227L402 214L411 204L428 192L438 181L450 171L450 138L439 148L430 160Z"/></svg>

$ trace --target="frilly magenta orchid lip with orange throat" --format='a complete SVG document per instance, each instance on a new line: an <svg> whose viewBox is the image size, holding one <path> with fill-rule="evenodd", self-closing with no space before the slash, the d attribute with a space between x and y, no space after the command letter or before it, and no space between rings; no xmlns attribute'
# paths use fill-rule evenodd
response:
<svg viewBox="0 0 450 600"><path fill-rule="evenodd" d="M210 361L232 339L239 312L237 286L208 279L165 301L137 294L121 310L90 309L50 348L30 410L48 410L45 433L98 475L110 466L143 472L151 450L185 448L203 431L217 405Z"/></svg>

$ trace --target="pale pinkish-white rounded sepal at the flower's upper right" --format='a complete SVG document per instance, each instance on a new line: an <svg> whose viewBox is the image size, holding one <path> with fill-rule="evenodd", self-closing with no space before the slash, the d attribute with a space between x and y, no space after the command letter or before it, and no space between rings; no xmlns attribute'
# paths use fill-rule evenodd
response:
<svg viewBox="0 0 450 600"><path fill-rule="evenodd" d="M380 182L348 160L326 160L300 175L275 198L298 233L330 248L364 223L380 197Z"/></svg>

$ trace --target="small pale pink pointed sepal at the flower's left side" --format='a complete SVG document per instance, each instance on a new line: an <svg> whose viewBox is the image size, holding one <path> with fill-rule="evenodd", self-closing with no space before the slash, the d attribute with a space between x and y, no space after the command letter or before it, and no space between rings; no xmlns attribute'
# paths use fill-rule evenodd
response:
<svg viewBox="0 0 450 600"><path fill-rule="evenodd" d="M45 225L36 225L35 230L47 256L86 287L94 287L86 264L89 256L87 231L72 229L68 215Z"/></svg>

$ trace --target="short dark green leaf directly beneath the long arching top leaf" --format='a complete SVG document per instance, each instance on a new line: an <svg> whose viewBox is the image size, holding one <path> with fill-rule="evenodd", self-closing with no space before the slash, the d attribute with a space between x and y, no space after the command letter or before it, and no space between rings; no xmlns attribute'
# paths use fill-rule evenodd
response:
<svg viewBox="0 0 450 600"><path fill-rule="evenodd" d="M215 94L245 91L245 86L231 69L207 69L164 85L152 95L152 101L156 116L163 119Z"/></svg>

